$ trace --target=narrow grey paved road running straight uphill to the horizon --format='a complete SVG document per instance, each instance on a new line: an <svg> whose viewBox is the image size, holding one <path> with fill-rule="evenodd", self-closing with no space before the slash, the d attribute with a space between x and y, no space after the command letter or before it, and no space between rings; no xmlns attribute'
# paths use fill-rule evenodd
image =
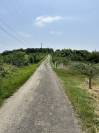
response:
<svg viewBox="0 0 99 133"><path fill-rule="evenodd" d="M0 133L81 133L49 58L0 109Z"/></svg>

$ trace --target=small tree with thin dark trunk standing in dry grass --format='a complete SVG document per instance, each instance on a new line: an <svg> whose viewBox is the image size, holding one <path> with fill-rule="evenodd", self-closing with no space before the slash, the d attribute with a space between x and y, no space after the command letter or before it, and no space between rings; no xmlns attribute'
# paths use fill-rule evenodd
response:
<svg viewBox="0 0 99 133"><path fill-rule="evenodd" d="M92 79L99 75L99 68L94 64L78 63L76 64L76 70L88 77L89 89L92 89Z"/></svg>

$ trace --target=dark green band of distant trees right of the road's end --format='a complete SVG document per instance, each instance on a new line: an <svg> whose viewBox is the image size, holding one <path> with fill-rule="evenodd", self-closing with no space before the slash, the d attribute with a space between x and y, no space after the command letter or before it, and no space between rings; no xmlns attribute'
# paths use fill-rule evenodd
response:
<svg viewBox="0 0 99 133"><path fill-rule="evenodd" d="M72 61L84 61L91 63L99 63L99 52L89 52L87 50L71 50L71 49L63 49L56 50L54 57L66 58Z"/></svg>

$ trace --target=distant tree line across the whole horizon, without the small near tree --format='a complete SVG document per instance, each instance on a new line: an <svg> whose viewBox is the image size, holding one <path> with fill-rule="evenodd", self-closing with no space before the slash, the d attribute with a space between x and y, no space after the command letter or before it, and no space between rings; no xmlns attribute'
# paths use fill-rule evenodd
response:
<svg viewBox="0 0 99 133"><path fill-rule="evenodd" d="M27 48L12 51L4 51L0 54L0 64L8 63L16 66L24 66L29 63L37 63L44 55L52 54L55 60L82 61L90 63L99 63L99 52L89 52L87 50L62 49L56 50L50 48Z"/></svg>

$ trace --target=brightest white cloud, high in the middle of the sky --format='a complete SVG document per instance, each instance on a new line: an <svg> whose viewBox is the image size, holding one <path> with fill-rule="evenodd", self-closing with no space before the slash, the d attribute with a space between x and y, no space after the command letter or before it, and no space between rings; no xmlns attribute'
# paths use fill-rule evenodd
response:
<svg viewBox="0 0 99 133"><path fill-rule="evenodd" d="M51 24L60 20L63 20L62 16L39 16L35 19L35 25L38 27L44 27L47 24Z"/></svg>

